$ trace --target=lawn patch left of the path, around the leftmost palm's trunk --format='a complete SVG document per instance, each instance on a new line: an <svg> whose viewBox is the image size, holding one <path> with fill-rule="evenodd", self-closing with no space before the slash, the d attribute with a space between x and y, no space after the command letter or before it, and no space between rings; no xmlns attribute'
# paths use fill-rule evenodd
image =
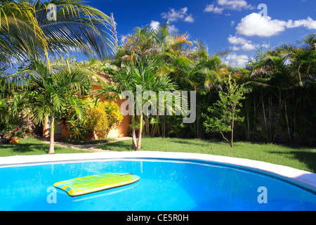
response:
<svg viewBox="0 0 316 225"><path fill-rule="evenodd" d="M11 155L44 155L48 153L48 150L48 143L37 139L22 139L20 143L0 145L0 157ZM55 153L86 153L86 151L55 146Z"/></svg>

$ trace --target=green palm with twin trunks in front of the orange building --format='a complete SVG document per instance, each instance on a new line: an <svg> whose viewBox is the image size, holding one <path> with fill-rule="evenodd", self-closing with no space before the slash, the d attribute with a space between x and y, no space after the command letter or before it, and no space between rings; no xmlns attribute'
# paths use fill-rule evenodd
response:
<svg viewBox="0 0 316 225"><path fill-rule="evenodd" d="M101 94L115 92L121 94L121 91L131 91L136 98L141 99L140 105L134 103L133 112L138 115L138 142L136 144L136 127L135 120L132 117L133 131L133 149L140 150L143 133L143 106L145 104L154 105L153 101L157 101L157 96L154 99L144 100L143 93L145 91L173 91L176 89L176 84L171 81L168 74L162 72L164 62L161 58L154 56L143 56L136 60L136 63L126 63L123 68L118 71L109 71L112 85L105 86ZM141 87L141 89L140 89ZM138 108L139 107L139 108ZM169 108L171 110L171 108ZM137 113L138 112L138 113ZM148 116L148 115L147 115Z"/></svg>

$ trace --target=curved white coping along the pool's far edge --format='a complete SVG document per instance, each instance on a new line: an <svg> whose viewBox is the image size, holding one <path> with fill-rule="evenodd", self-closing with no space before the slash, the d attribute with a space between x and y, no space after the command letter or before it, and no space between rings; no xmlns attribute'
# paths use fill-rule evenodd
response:
<svg viewBox="0 0 316 225"><path fill-rule="evenodd" d="M15 165L58 163L62 161L89 161L108 160L120 158L168 158L180 160L206 160L211 162L229 164L239 167L247 167L255 171L264 172L273 176L281 177L294 184L304 186L316 191L316 174L306 172L292 167L275 165L269 162L247 160L242 158L231 158L219 155L206 155L199 153L172 153L155 151L124 151L124 152L100 152L100 153L69 153L53 155L15 155L0 157L0 167L11 167Z"/></svg>

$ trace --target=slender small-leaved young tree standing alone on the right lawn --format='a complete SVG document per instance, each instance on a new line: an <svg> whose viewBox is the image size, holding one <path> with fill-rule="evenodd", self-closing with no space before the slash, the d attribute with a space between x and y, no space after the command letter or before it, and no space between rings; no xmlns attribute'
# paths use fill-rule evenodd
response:
<svg viewBox="0 0 316 225"><path fill-rule="evenodd" d="M243 86L236 84L231 78L225 82L227 92L220 91L218 100L208 108L210 115L203 115L206 121L203 123L206 131L218 131L223 139L230 143L230 147L234 144L234 126L236 122L244 121L244 117L239 117L239 107L242 107L241 101L244 99ZM230 131L231 139L225 137L224 132Z"/></svg>

